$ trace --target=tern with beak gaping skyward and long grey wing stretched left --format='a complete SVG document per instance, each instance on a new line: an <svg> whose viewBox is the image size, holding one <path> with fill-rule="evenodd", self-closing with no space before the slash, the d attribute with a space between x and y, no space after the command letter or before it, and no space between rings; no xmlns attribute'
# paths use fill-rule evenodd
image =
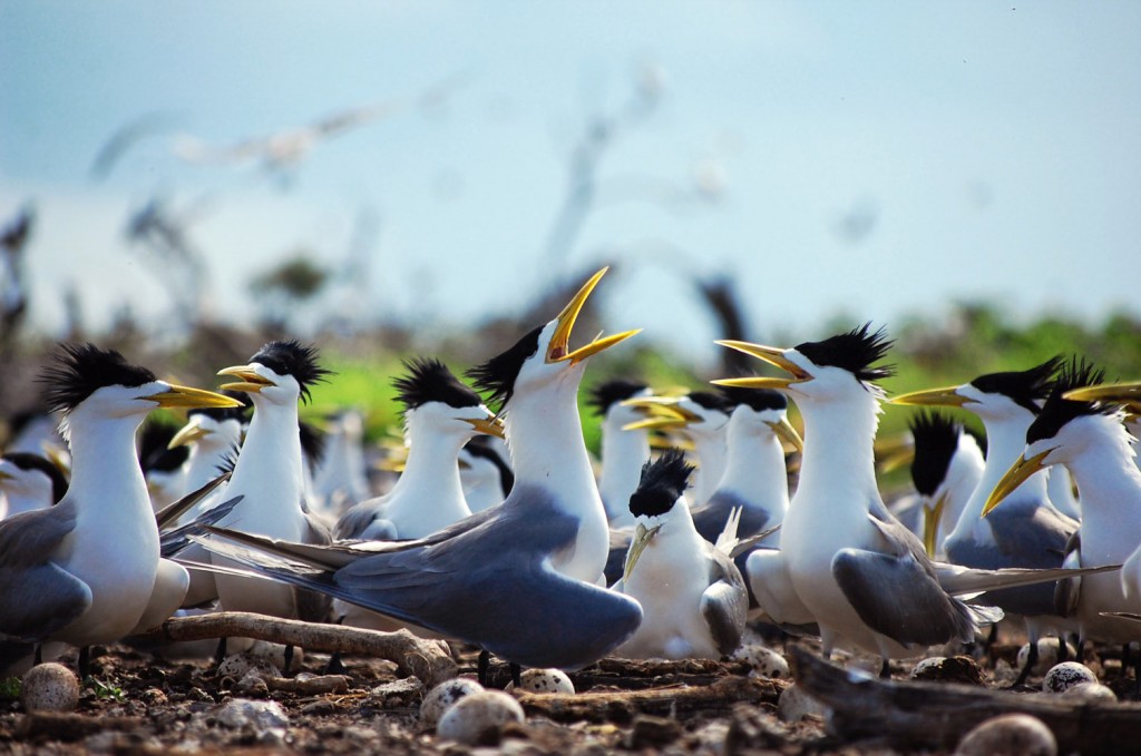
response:
<svg viewBox="0 0 1141 756"><path fill-rule="evenodd" d="M582 437L586 359L636 332L569 348L606 273L550 323L471 371L500 405L516 483L501 506L427 538L306 546L215 529L211 548L294 585L480 647L516 665L580 668L637 629L641 608L599 587L606 512Z"/></svg>

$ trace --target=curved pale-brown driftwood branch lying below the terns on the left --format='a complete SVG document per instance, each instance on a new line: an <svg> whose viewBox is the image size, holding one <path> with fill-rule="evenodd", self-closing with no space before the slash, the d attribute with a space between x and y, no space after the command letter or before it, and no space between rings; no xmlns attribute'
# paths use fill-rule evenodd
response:
<svg viewBox="0 0 1141 756"><path fill-rule="evenodd" d="M431 688L455 677L455 661L440 641L426 641L408 631L379 633L359 627L319 625L297 619L276 619L244 611L219 611L194 617L173 617L132 641L169 643L211 637L252 637L297 645L308 651L378 657L397 665L400 674L419 677Z"/></svg>

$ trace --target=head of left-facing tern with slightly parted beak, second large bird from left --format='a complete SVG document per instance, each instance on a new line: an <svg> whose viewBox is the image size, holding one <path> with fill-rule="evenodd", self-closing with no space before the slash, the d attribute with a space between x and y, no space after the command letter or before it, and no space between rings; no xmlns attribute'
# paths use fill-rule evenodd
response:
<svg viewBox="0 0 1141 756"><path fill-rule="evenodd" d="M237 381L221 388L249 393L254 405L260 401L297 405L298 400L308 403L309 390L323 383L330 371L317 365L316 347L289 340L270 341L249 364L225 367L218 375L236 377Z"/></svg>

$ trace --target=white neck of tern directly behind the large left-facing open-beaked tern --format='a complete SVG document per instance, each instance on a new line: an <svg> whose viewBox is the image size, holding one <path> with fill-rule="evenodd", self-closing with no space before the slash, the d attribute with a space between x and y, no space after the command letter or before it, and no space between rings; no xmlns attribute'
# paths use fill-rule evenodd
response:
<svg viewBox="0 0 1141 756"><path fill-rule="evenodd" d="M726 469L718 488L736 491L748 504L768 511L788 509L788 479L780 439L771 431L729 421L726 440Z"/></svg>

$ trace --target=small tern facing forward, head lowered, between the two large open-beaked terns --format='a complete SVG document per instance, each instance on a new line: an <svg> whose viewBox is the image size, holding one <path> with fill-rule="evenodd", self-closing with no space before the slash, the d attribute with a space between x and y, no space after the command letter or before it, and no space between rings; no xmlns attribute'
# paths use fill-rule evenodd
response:
<svg viewBox="0 0 1141 756"><path fill-rule="evenodd" d="M637 534L612 590L637 599L644 617L620 657L720 659L741 645L748 591L729 556L736 536L725 531L714 545L697 533L685 498L690 472L681 452L666 452L642 466L630 497Z"/></svg>

